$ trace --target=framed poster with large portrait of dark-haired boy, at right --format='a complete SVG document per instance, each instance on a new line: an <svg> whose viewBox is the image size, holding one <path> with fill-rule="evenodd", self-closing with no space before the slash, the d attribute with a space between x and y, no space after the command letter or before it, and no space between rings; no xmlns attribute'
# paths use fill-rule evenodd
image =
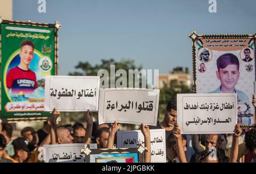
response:
<svg viewBox="0 0 256 174"><path fill-rule="evenodd" d="M238 122L254 123L254 35L196 35L193 89L196 93L237 93Z"/></svg>

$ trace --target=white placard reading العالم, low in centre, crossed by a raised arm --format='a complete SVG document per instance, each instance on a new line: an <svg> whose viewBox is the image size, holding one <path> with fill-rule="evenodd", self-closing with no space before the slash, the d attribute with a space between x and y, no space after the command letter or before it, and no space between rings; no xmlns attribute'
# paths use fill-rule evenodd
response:
<svg viewBox="0 0 256 174"><path fill-rule="evenodd" d="M166 163L166 130L150 130L150 142L151 162ZM144 146L144 136L140 130L117 131L118 148L138 147L139 144Z"/></svg>

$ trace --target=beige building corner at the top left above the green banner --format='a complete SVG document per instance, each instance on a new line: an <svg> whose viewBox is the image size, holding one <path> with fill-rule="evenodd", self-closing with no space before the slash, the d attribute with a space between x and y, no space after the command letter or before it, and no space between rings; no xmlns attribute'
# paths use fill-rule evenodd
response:
<svg viewBox="0 0 256 174"><path fill-rule="evenodd" d="M0 0L0 18L13 20L13 0Z"/></svg>

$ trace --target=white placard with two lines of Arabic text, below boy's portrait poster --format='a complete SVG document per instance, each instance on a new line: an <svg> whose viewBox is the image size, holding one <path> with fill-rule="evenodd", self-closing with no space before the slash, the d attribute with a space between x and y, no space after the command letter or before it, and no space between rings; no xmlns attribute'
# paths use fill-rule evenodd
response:
<svg viewBox="0 0 256 174"><path fill-rule="evenodd" d="M182 134L233 133L240 109L236 93L177 94L177 123Z"/></svg>

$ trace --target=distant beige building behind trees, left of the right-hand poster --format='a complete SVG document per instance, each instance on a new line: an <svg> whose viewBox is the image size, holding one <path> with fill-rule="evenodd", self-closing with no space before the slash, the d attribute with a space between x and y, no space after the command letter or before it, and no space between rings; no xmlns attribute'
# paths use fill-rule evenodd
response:
<svg viewBox="0 0 256 174"><path fill-rule="evenodd" d="M170 86L171 82L191 88L191 74L188 68L176 67L169 74L159 74L159 89L164 88L164 86L172 87Z"/></svg>

